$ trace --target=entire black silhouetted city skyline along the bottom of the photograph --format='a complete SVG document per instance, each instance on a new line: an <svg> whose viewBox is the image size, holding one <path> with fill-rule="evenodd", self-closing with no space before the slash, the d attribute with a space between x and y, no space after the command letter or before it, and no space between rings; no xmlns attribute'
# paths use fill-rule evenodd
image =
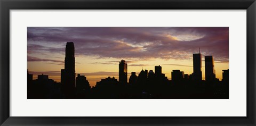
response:
<svg viewBox="0 0 256 126"><path fill-rule="evenodd" d="M119 62L119 81L114 77L101 79L95 87L90 86L84 75L75 73L75 47L68 42L65 54L65 69L61 70L61 82L49 79L48 75L27 72L28 98L157 98L157 99L222 99L229 98L229 70L222 71L222 80L215 78L213 56L205 56L206 80L202 80L202 55L193 54L193 74L180 70L171 72L172 80L162 73L162 66L155 70L131 72L127 82L127 63Z"/></svg>

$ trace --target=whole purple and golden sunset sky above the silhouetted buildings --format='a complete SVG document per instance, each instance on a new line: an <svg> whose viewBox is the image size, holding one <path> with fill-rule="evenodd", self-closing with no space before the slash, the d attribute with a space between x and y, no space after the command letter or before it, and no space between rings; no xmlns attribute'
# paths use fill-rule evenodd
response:
<svg viewBox="0 0 256 126"><path fill-rule="evenodd" d="M216 77L229 69L228 27L28 27L28 71L47 74L60 82L67 41L75 45L76 74L85 75L90 86L107 77L118 79L118 64L128 64L138 75L142 68L161 65L171 80L172 70L193 73L193 53L213 55Z"/></svg>

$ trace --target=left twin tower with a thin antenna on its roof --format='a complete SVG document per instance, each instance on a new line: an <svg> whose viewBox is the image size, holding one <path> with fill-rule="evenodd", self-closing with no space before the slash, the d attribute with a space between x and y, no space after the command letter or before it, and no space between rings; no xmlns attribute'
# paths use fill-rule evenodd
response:
<svg viewBox="0 0 256 126"><path fill-rule="evenodd" d="M193 54L193 80L202 80L202 54Z"/></svg>

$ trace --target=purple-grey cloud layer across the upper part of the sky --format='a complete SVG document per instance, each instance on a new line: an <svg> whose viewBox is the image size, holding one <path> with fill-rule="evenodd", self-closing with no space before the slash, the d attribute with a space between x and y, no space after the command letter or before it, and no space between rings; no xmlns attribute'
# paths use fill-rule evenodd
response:
<svg viewBox="0 0 256 126"><path fill-rule="evenodd" d="M191 59L201 48L214 61L228 62L228 28L168 27L29 27L28 54L65 53L67 41L76 56L118 59Z"/></svg>

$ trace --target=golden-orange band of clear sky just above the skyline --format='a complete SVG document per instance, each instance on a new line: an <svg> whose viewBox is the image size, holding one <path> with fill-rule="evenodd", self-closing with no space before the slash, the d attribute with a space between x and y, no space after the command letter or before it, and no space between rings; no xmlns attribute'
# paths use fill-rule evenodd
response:
<svg viewBox="0 0 256 126"><path fill-rule="evenodd" d="M80 57L76 58L77 61L81 62ZM87 60L85 60L86 62L88 62ZM101 60L100 60L101 61ZM90 61L89 61L90 62ZM167 63L172 62L173 64L182 64L184 66L175 66L175 65L167 65ZM155 72L155 66L156 65L161 65L162 66L162 72L165 74L165 76L171 80L171 72L172 70L181 70L184 71L184 74L191 74L193 73L193 61L190 60L190 62L188 61L159 61L159 60L155 60L155 61L142 61L140 63L136 63L136 64L145 64L147 63L147 65L144 66L130 66L134 63L127 63L128 64L128 72L127 72L127 80L129 81L131 72L136 72L136 75L138 76L138 74L140 73L140 71L143 69L147 69L149 70L153 70ZM29 63L30 64L30 63ZM227 70L229 69L229 63L214 63L215 65L215 74L216 74L216 78L218 78L219 80L222 79L222 70ZM48 66L49 65L49 66ZM33 65L29 65L29 66L33 66ZM29 68L29 67L28 67ZM43 67L43 69L47 70L55 70L58 71L59 69L59 73L56 73L55 75L51 75L49 74L49 79L53 79L54 81L60 82L60 69L63 69L62 67L56 67L56 65L54 64L47 64L47 66ZM54 69L55 68L55 69ZM56 69L58 68L58 69ZM41 69L41 71L45 71ZM33 71L33 69L28 69L29 71ZM47 72L41 72L38 71L39 74L47 74ZM34 71L33 71L34 72ZM109 74L108 74L109 73ZM83 63L79 63L76 64L76 76L77 74L81 74L81 75L85 75L86 79L89 81L90 86L95 86L96 82L101 81L101 79L105 79L107 77L115 77L118 80L118 62L114 63L114 64L83 64ZM203 80L205 79L205 70L204 70L204 61L202 61L202 75L203 75ZM37 79L37 75L34 74L33 75L33 79Z"/></svg>

